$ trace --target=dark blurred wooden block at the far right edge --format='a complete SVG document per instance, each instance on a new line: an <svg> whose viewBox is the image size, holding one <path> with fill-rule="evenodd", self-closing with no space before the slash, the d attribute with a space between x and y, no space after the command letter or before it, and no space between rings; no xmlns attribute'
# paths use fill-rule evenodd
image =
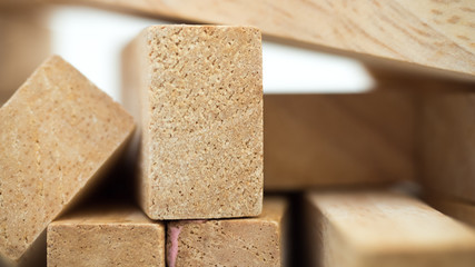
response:
<svg viewBox="0 0 475 267"><path fill-rule="evenodd" d="M422 101L420 181L431 192L475 201L475 93L431 93Z"/></svg>

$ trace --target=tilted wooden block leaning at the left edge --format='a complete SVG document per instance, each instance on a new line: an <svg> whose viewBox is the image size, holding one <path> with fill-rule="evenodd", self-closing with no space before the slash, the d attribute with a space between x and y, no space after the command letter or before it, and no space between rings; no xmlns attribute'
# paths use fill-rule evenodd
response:
<svg viewBox="0 0 475 267"><path fill-rule="evenodd" d="M133 127L73 67L47 59L0 108L0 260L26 260L48 224L113 162Z"/></svg>

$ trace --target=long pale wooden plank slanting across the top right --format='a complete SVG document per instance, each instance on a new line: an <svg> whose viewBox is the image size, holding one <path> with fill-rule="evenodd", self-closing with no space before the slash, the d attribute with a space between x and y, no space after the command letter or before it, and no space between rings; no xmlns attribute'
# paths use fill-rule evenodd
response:
<svg viewBox="0 0 475 267"><path fill-rule="evenodd" d="M330 48L367 62L384 59L378 61L475 80L473 0L52 1L102 4L175 20L248 24L270 37Z"/></svg>

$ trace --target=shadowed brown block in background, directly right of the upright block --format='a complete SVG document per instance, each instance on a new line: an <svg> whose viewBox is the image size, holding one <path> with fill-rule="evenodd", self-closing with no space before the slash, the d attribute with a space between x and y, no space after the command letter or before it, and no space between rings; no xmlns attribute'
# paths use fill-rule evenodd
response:
<svg viewBox="0 0 475 267"><path fill-rule="evenodd" d="M414 95L265 95L266 190L414 178Z"/></svg>

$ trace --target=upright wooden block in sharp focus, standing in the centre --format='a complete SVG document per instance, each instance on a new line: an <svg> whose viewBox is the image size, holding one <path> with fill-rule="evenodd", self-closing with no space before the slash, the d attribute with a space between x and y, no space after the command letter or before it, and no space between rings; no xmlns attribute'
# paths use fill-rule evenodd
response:
<svg viewBox="0 0 475 267"><path fill-rule="evenodd" d="M151 219L259 215L259 30L152 26L123 56L125 102L141 129L138 188L145 212Z"/></svg>

